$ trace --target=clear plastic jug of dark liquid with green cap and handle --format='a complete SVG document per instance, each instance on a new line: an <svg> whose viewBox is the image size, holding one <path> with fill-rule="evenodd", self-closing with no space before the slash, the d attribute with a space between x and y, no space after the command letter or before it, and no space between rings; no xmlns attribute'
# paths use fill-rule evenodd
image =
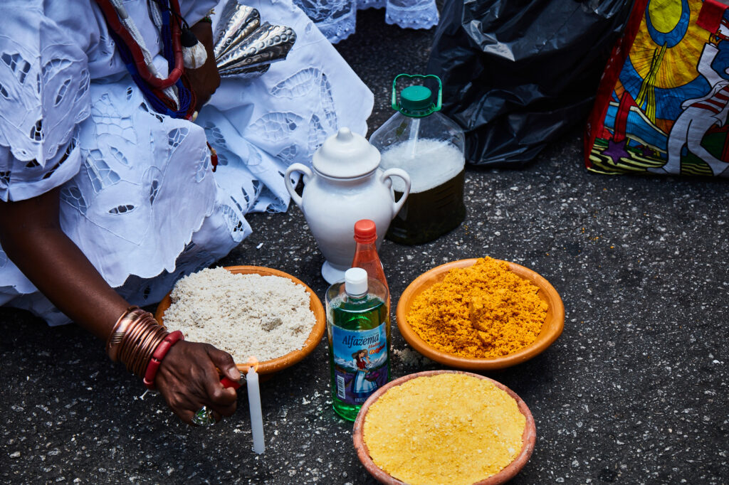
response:
<svg viewBox="0 0 729 485"><path fill-rule="evenodd" d="M397 100L397 81L434 79L438 91L405 87ZM381 152L381 167L401 168L410 176L410 197L392 220L386 238L402 244L432 241L456 228L466 216L463 202L464 133L439 113L443 84L432 74L399 74L392 82L392 115L370 136ZM435 98L435 99L434 99ZM393 180L396 197L404 192Z"/></svg>

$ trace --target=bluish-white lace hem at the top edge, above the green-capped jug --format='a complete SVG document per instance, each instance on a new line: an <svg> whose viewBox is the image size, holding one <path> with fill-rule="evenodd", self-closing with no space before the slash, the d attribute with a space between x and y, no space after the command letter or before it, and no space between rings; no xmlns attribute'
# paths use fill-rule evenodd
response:
<svg viewBox="0 0 729 485"><path fill-rule="evenodd" d="M357 10L384 8L385 22L402 28L438 23L435 0L294 0L332 44L356 30Z"/></svg>

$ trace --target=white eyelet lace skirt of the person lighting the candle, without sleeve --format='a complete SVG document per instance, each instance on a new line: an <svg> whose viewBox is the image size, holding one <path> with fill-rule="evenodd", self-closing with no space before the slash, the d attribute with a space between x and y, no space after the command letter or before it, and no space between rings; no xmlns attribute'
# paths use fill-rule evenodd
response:
<svg viewBox="0 0 729 485"><path fill-rule="evenodd" d="M152 111L128 75L86 84L90 115L71 124L77 173L61 189L61 225L132 304L159 301L225 256L252 232L246 213L286 210L286 167L311 163L328 135L367 132L372 92L311 20L288 0L246 3L294 28L297 42L262 76L223 79L195 124ZM68 322L1 250L0 304Z"/></svg>

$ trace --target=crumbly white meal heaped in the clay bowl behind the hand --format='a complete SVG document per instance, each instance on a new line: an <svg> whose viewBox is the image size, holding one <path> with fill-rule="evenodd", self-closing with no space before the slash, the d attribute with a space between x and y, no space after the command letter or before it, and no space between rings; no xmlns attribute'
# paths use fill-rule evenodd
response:
<svg viewBox="0 0 729 485"><path fill-rule="evenodd" d="M179 280L170 298L165 326L225 350L235 363L300 350L315 323L306 289L279 276L203 269Z"/></svg>

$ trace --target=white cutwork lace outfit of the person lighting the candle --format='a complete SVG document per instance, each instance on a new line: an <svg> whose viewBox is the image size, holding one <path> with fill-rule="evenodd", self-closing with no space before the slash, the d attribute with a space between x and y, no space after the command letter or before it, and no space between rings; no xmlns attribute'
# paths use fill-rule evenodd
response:
<svg viewBox="0 0 729 485"><path fill-rule="evenodd" d="M252 232L246 213L286 210L286 167L310 163L327 135L367 130L372 93L289 0L246 1L295 29L288 58L256 79L224 79L195 124L152 111L95 5L62 3L0 4L10 20L0 34L0 197L61 186L64 232L130 303L159 301L225 256ZM181 7L194 23L215 3ZM124 4L158 50L146 0ZM155 64L166 74L160 55ZM1 250L0 304L68 321Z"/></svg>

